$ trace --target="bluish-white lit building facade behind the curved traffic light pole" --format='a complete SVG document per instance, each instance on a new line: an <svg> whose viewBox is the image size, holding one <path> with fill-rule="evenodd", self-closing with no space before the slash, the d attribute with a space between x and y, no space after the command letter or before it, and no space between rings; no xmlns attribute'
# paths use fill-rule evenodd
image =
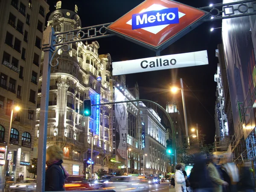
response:
<svg viewBox="0 0 256 192"><path fill-rule="evenodd" d="M169 163L166 155L166 129L160 116L152 108L140 102L140 117L145 124L144 172L147 175L166 175Z"/></svg>

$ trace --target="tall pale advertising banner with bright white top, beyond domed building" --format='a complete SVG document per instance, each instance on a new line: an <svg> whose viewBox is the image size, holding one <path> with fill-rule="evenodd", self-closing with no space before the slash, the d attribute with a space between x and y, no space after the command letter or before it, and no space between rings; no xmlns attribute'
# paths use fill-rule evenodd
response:
<svg viewBox="0 0 256 192"><path fill-rule="evenodd" d="M127 100L118 89L115 89L115 99L115 102ZM125 159L127 157L126 108L126 103L115 104L116 152Z"/></svg>

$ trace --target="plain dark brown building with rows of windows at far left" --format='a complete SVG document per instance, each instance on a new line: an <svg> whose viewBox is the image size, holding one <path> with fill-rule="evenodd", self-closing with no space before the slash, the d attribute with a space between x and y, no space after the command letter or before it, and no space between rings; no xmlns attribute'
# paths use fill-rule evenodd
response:
<svg viewBox="0 0 256 192"><path fill-rule="evenodd" d="M0 174L7 140L10 141L6 181L31 177L34 114L38 93L41 40L49 5L46 0L0 1ZM40 56L39 56L40 55ZM11 111L14 110L9 137Z"/></svg>

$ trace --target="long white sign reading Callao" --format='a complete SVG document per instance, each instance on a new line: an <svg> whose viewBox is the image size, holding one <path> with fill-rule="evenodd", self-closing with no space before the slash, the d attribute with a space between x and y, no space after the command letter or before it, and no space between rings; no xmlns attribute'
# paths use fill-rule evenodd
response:
<svg viewBox="0 0 256 192"><path fill-rule="evenodd" d="M113 62L113 76L207 65L207 50Z"/></svg>

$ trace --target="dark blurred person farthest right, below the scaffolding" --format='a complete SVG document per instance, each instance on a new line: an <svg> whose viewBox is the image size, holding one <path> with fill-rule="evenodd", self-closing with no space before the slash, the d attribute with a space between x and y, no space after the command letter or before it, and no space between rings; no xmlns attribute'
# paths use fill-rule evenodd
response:
<svg viewBox="0 0 256 192"><path fill-rule="evenodd" d="M244 162L242 166L239 188L242 192L254 192L253 174L250 161Z"/></svg>

